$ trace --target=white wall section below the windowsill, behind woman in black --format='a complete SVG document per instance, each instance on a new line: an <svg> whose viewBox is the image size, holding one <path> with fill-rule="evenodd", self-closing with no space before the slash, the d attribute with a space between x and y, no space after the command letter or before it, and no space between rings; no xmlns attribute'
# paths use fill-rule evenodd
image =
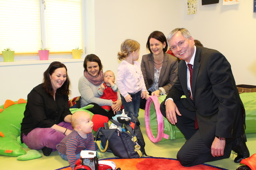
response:
<svg viewBox="0 0 256 170"><path fill-rule="evenodd" d="M82 76L83 61L79 62L63 62L68 69L68 76L71 82L71 96L79 96L78 92L78 79ZM13 101L20 98L27 99L28 93L42 83L43 72L48 68L49 64L55 60L49 60L45 64L26 64L15 66L0 66L0 106L4 104L5 100L10 99ZM58 61L58 60L56 60Z"/></svg>

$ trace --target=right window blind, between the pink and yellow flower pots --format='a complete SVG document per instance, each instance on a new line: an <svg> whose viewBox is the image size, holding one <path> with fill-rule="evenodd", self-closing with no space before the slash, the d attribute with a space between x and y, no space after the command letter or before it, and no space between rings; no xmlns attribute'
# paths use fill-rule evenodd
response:
<svg viewBox="0 0 256 170"><path fill-rule="evenodd" d="M46 0L46 39L53 53L83 47L81 0Z"/></svg>

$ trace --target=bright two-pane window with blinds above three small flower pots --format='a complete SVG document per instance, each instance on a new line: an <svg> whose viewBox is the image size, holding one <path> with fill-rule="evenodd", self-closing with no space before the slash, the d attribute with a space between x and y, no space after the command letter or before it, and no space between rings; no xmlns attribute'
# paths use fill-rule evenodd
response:
<svg viewBox="0 0 256 170"><path fill-rule="evenodd" d="M81 1L0 0L0 51L10 47L17 55L46 47L50 53L83 49Z"/></svg>

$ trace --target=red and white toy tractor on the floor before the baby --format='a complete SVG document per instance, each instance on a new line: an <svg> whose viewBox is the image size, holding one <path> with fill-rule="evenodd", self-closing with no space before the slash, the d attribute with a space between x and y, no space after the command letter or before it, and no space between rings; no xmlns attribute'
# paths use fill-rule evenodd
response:
<svg viewBox="0 0 256 170"><path fill-rule="evenodd" d="M74 170L121 170L110 160L98 160L96 151L82 150Z"/></svg>

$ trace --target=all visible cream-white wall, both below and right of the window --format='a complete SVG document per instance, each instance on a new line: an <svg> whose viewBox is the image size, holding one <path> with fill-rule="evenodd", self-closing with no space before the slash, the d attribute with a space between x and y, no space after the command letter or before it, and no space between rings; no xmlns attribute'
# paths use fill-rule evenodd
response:
<svg viewBox="0 0 256 170"><path fill-rule="evenodd" d="M256 85L256 13L253 1L239 5L219 4L202 6L198 0L197 14L187 15L187 0L86 0L90 5L86 35L90 49L100 57L104 70L116 73L117 52L124 39L137 40L140 56L148 53L146 41L155 30L166 36L176 27L187 28L194 39L205 47L223 53L230 64L236 84ZM141 57L140 57L141 59ZM72 83L72 95L79 95L77 83L82 76L82 60L64 63ZM26 99L34 86L42 82L46 64L0 66L0 105L6 99Z"/></svg>

